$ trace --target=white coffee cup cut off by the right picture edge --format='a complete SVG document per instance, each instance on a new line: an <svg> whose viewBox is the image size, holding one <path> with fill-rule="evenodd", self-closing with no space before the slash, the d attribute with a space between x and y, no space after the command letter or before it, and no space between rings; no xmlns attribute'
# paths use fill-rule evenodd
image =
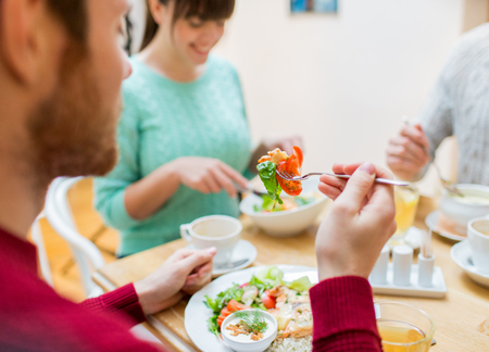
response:
<svg viewBox="0 0 489 352"><path fill-rule="evenodd" d="M489 274L489 217L469 221L467 237L474 265L480 273Z"/></svg>

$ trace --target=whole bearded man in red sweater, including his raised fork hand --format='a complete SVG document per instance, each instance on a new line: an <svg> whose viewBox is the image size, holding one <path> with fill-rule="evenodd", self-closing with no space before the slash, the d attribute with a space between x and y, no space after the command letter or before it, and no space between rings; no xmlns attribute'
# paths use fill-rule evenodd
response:
<svg viewBox="0 0 489 352"><path fill-rule="evenodd" d="M53 178L115 163L130 74L117 46L126 1L0 0L0 351L155 350L128 328L210 280L215 249L183 250L147 278L74 304L38 278L26 241ZM316 237L314 351L381 351L367 277L396 229L392 187L374 184L390 175L372 164L334 172L353 176L319 186L336 202Z"/></svg>

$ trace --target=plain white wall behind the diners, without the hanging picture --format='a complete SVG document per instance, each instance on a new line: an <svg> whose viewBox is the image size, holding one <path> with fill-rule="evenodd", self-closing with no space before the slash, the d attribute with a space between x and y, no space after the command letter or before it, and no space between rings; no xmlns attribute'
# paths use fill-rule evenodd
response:
<svg viewBox="0 0 489 352"><path fill-rule="evenodd" d="M131 50L146 0L131 0ZM290 0L237 0L214 53L238 68L252 136L299 133L303 171L385 165L401 117L414 118L454 43L489 20L488 0L338 0L336 13L291 13ZM437 159L456 178L454 141ZM434 171L419 185L434 196Z"/></svg>

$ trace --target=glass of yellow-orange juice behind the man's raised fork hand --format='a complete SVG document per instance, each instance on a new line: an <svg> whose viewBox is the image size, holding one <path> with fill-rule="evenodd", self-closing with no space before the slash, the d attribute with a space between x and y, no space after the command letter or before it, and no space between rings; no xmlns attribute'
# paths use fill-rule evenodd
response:
<svg viewBox="0 0 489 352"><path fill-rule="evenodd" d="M398 229L389 239L390 246L404 244L405 234L408 234L409 228L414 223L417 203L419 202L419 192L414 185L394 187L394 201Z"/></svg>

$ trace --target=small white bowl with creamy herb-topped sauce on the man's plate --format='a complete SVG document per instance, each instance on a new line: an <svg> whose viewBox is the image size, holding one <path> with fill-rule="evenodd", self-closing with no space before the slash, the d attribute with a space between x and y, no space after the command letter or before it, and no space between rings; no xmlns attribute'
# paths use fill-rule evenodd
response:
<svg viewBox="0 0 489 352"><path fill-rule="evenodd" d="M244 310L227 316L221 328L224 342L238 352L261 352L277 337L276 318L261 310Z"/></svg>

